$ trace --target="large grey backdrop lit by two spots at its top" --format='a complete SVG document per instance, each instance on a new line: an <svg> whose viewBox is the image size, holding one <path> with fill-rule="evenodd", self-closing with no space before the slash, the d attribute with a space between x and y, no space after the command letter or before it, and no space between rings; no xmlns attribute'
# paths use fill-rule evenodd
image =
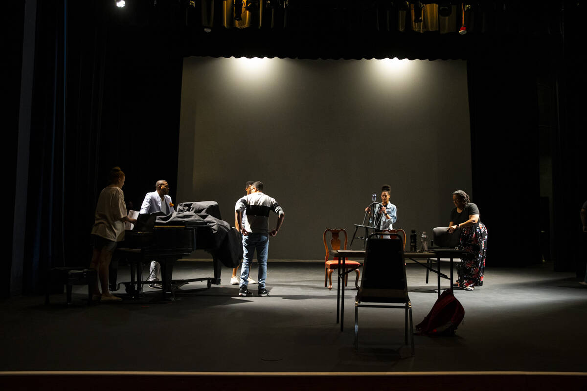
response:
<svg viewBox="0 0 587 391"><path fill-rule="evenodd" d="M384 183L394 228L430 234L454 190L474 202L466 64L188 57L178 153L174 202L215 200L232 225L245 182L264 182L286 215L269 260L323 259L326 228L350 244Z"/></svg>

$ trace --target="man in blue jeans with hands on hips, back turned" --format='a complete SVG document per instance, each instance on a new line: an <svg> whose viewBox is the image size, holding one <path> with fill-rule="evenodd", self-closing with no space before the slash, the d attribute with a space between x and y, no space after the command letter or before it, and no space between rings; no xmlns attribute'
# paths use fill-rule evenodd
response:
<svg viewBox="0 0 587 391"><path fill-rule="evenodd" d="M245 226L242 226L242 212L247 212ZM269 232L269 212L275 212L277 225ZM241 268L241 284L238 295L241 297L252 296L248 291L249 270L255 250L257 250L257 263L259 264L259 296L268 296L265 288L267 278L267 252L269 250L269 236L275 236L284 223L285 213L274 198L263 193L263 183L255 182L251 185L251 193L237 201L234 206L234 215L237 229L242 233L243 261Z"/></svg>

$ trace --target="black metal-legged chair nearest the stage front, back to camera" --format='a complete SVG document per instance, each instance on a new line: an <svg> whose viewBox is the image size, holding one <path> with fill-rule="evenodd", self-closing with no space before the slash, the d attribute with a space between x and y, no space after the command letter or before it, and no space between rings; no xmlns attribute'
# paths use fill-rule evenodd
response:
<svg viewBox="0 0 587 391"><path fill-rule="evenodd" d="M362 304L363 302L377 304ZM405 343L408 344L409 336L411 355L414 355L411 302L407 294L403 240L399 234L379 232L369 235L361 284L355 297L355 349L359 349L359 307L403 308Z"/></svg>

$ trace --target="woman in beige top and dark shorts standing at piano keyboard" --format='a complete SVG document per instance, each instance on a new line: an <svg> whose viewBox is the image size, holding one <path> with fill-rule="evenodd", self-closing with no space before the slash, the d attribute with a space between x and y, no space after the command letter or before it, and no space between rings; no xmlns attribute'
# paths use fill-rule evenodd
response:
<svg viewBox="0 0 587 391"><path fill-rule="evenodd" d="M96 206L95 222L92 227L93 252L90 268L97 271L92 300L120 301L122 298L110 294L108 290L108 267L116 243L124 240L124 223L136 223L127 216L124 203L124 172L114 167L108 175L109 185L102 189ZM99 284L102 287L100 293Z"/></svg>

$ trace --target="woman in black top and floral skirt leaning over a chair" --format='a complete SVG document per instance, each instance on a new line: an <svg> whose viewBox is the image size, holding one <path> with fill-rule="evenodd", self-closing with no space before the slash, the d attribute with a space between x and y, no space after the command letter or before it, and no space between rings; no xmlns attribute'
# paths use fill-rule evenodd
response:
<svg viewBox="0 0 587 391"><path fill-rule="evenodd" d="M463 286L459 288L472 291L483 285L487 228L481 223L479 208L467 193L462 190L453 192L453 203L455 208L450 213L448 232L461 230L458 249L467 251L467 255L461 258L463 264L457 268L459 279L463 280Z"/></svg>

